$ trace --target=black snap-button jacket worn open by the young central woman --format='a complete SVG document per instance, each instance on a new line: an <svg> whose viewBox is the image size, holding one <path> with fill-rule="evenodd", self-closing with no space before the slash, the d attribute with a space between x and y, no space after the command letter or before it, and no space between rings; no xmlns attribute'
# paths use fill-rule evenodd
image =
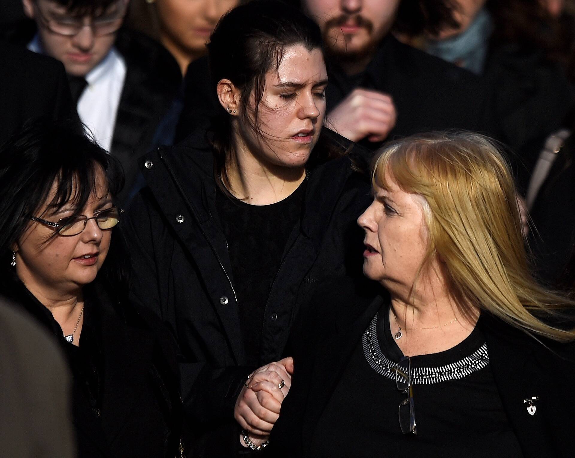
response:
<svg viewBox="0 0 575 458"><path fill-rule="evenodd" d="M345 142L327 129L322 135ZM179 342L185 411L196 433L194 443L206 446L198 456L225 456L239 444L233 405L255 368L246 366L205 131L145 155L140 165L147 187L128 211L137 270L133 297L160 315ZM287 242L267 300L262 364L281 356L294 316L308 305L317 281L361 275L356 219L370 203L369 184L352 171L349 156L309 172L301 221Z"/></svg>

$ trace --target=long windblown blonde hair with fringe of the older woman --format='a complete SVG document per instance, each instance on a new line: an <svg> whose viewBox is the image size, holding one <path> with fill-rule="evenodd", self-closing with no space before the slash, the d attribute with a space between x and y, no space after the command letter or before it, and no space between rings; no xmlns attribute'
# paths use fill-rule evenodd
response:
<svg viewBox="0 0 575 458"><path fill-rule="evenodd" d="M559 329L536 318L561 318L561 311L575 303L534 280L512 174L492 140L470 132L402 139L381 148L374 158L373 185L389 189L390 178L427 203L429 239L422 268L439 257L455 299L530 334L575 339L575 329Z"/></svg>

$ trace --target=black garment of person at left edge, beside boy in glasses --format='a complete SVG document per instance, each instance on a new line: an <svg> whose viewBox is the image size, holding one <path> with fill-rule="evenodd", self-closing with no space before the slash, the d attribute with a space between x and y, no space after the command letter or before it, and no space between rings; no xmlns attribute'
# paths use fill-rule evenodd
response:
<svg viewBox="0 0 575 458"><path fill-rule="evenodd" d="M0 146L30 118L78 119L62 63L0 44Z"/></svg>

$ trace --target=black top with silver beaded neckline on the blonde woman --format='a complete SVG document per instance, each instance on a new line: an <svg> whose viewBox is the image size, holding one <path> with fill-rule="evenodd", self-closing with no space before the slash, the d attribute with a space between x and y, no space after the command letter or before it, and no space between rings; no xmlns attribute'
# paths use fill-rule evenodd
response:
<svg viewBox="0 0 575 458"><path fill-rule="evenodd" d="M479 327L454 348L411 358L417 435L403 434L398 421L405 394L397 390L392 371L402 356L389 329L389 306L384 305L356 345L325 407L312 456L371 457L384 450L390 456L523 456L503 410ZM418 369L427 377L414 375Z"/></svg>

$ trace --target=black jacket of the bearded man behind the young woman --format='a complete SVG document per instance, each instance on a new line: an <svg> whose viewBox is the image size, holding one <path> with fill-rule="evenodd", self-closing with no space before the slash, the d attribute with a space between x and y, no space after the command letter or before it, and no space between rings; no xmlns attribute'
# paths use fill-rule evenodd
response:
<svg viewBox="0 0 575 458"><path fill-rule="evenodd" d="M375 53L361 81L348 81L343 71L328 61L327 112L355 87L382 91L393 97L397 123L388 139L443 129L468 129L499 136L492 112L489 86L471 72L387 36ZM206 117L222 112L209 78L207 59L190 64L185 77L184 108L176 141ZM375 149L381 143L367 140Z"/></svg>

